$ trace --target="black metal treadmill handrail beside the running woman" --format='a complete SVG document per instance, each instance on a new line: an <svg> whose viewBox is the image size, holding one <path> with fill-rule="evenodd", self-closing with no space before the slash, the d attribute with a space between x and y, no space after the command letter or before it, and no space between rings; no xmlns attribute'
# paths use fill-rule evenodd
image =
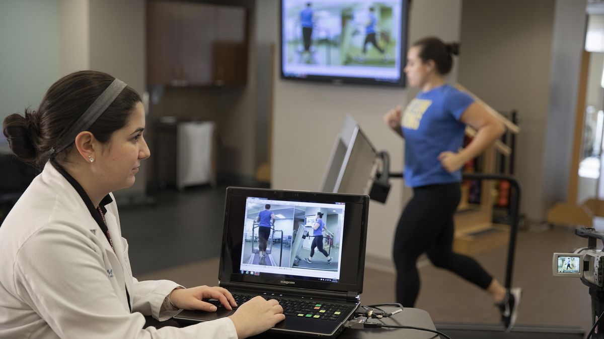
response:
<svg viewBox="0 0 604 339"><path fill-rule="evenodd" d="M389 177L402 178L402 173L389 173ZM520 182L515 177L503 176L501 174L462 173L463 179L476 180L507 180L510 183L510 241L507 247L506 264L506 288L512 287L512 270L514 267L514 255L516 253L516 233L520 218Z"/></svg>

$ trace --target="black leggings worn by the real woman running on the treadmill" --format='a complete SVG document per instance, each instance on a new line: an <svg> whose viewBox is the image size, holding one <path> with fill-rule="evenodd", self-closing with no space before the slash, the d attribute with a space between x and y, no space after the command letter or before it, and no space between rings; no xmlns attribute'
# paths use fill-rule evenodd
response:
<svg viewBox="0 0 604 339"><path fill-rule="evenodd" d="M460 184L429 185L413 189L413 198L402 215L394 236L396 300L415 305L419 294L417 258L426 252L432 264L446 268L486 290L493 280L474 259L453 252L453 214L461 196Z"/></svg>

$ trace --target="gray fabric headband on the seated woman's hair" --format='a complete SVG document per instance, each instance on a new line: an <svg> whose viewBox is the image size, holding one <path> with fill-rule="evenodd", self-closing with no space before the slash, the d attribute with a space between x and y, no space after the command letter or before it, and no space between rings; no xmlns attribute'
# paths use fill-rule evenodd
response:
<svg viewBox="0 0 604 339"><path fill-rule="evenodd" d="M98 96L97 100L88 107L86 112L84 112L84 114L80 116L65 133L63 133L63 136L59 138L56 146L51 148L50 154L57 154L71 145L81 131L87 130L95 121L97 121L98 117L105 112L107 107L114 102L115 98L120 95L121 91L124 90L126 86L126 83L115 78L109 87Z"/></svg>

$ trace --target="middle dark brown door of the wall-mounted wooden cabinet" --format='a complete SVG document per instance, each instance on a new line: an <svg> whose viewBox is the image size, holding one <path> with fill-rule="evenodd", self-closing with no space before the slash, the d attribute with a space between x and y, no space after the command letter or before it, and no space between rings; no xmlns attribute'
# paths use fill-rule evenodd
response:
<svg viewBox="0 0 604 339"><path fill-rule="evenodd" d="M216 6L181 3L183 78L190 85L211 84Z"/></svg>

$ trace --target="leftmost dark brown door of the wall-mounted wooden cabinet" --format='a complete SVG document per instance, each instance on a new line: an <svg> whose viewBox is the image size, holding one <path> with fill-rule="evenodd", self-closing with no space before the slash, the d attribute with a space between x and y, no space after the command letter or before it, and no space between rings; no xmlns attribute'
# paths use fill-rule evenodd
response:
<svg viewBox="0 0 604 339"><path fill-rule="evenodd" d="M178 78L181 34L178 2L147 2L147 83L170 84Z"/></svg>

